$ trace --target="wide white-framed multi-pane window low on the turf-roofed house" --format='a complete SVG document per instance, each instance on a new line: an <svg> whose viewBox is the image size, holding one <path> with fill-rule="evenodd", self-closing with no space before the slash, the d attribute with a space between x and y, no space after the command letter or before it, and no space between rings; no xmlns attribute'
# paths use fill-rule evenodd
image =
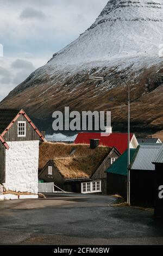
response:
<svg viewBox="0 0 163 256"><path fill-rule="evenodd" d="M82 193L101 192L101 181L90 181L82 183Z"/></svg>

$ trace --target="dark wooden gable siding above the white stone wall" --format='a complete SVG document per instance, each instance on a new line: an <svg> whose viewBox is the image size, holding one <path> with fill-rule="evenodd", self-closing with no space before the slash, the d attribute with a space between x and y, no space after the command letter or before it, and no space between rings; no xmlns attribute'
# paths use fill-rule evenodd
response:
<svg viewBox="0 0 163 256"><path fill-rule="evenodd" d="M18 121L26 121L26 137L17 137L17 123ZM5 141L37 141L39 140L39 135L33 127L28 123L27 119L23 115L20 115L15 123L10 127L9 131L3 136Z"/></svg>

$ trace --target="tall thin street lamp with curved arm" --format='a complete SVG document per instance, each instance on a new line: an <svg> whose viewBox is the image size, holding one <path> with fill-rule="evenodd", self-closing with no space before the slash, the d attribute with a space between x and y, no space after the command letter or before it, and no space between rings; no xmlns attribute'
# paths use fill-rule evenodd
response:
<svg viewBox="0 0 163 256"><path fill-rule="evenodd" d="M96 81L105 81L104 77L98 77L98 76L90 76L89 77L90 80L96 80ZM127 203L130 205L130 170L129 170L129 165L130 165L130 87L129 84L120 79L120 78L106 78L106 80L117 80L121 83L124 83L127 88L128 88L128 179L127 179Z"/></svg>

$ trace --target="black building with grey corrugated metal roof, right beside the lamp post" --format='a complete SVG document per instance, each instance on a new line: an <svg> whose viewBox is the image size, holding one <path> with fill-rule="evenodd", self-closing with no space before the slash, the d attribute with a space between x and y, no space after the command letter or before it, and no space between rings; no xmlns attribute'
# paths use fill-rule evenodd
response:
<svg viewBox="0 0 163 256"><path fill-rule="evenodd" d="M155 165L160 143L140 145L130 164L130 202L132 205L154 206Z"/></svg>

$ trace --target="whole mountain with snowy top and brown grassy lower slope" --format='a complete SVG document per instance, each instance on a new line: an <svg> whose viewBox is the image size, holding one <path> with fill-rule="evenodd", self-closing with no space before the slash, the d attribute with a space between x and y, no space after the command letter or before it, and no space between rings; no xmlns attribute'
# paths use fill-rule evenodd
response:
<svg viewBox="0 0 163 256"><path fill-rule="evenodd" d="M133 127L163 128L162 48L163 0L110 0L87 31L12 90L0 107L23 107L41 125L43 120L51 125L53 111L65 106L109 109L117 130L127 120L126 88L88 78L121 77L131 85Z"/></svg>

